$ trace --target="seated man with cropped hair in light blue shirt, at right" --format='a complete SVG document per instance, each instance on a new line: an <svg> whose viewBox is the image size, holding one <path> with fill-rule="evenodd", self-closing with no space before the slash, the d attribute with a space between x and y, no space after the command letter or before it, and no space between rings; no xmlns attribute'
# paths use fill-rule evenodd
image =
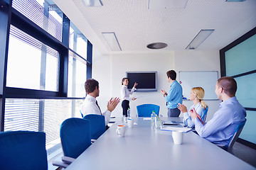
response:
<svg viewBox="0 0 256 170"><path fill-rule="evenodd" d="M242 107L235 97L237 87L237 83L232 77L218 79L215 85L215 93L223 102L220 103L219 110L208 123L203 125L200 116L194 108L190 111L191 117L195 119L195 128L198 135L219 147L228 145L228 141L234 134L235 128L238 124L245 121L245 108Z"/></svg>

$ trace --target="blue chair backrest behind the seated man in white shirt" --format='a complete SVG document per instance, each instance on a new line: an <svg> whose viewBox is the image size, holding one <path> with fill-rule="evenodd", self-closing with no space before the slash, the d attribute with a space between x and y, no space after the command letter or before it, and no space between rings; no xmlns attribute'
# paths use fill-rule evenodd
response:
<svg viewBox="0 0 256 170"><path fill-rule="evenodd" d="M84 119L90 120L92 139L97 140L106 131L104 115L89 114Z"/></svg>

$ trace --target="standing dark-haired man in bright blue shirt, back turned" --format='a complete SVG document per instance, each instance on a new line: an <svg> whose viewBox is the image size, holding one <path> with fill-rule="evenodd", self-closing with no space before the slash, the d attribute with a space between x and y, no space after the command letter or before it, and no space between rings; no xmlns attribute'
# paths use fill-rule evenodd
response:
<svg viewBox="0 0 256 170"><path fill-rule="evenodd" d="M166 106L168 108L168 117L178 117L181 111L178 110L178 103L182 104L182 87L181 84L176 81L176 72L174 70L170 70L166 72L167 80L171 83L171 88L168 92L161 90L161 93L164 95L166 99Z"/></svg>

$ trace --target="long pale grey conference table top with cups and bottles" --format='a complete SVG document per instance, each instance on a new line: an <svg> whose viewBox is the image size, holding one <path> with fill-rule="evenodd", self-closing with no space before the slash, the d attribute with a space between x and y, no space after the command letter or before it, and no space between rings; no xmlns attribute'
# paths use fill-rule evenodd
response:
<svg viewBox="0 0 256 170"><path fill-rule="evenodd" d="M133 119L137 125L127 127L125 136L119 137L117 125L124 123L121 118L115 118L110 129L67 170L255 169L192 131L184 133L182 145L176 145L171 131L151 130L150 120ZM181 118L162 117L161 120L182 122Z"/></svg>

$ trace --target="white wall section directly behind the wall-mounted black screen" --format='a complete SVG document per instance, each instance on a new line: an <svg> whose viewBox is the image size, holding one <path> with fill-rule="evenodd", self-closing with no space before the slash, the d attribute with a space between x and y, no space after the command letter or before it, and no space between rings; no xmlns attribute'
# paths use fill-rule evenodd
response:
<svg viewBox="0 0 256 170"><path fill-rule="evenodd" d="M155 92L134 92L132 96L143 96L136 101L130 102L132 115L137 115L136 106L144 103L153 103L160 106L160 113L166 115L166 102L161 95L161 89L169 89L166 80L166 70L174 69L173 52L163 54L133 54L133 55L112 55L112 95L120 96L122 87L121 80L126 77L126 72L157 72L157 91ZM122 115L122 107L118 106L114 115ZM167 115L166 115L167 116Z"/></svg>

